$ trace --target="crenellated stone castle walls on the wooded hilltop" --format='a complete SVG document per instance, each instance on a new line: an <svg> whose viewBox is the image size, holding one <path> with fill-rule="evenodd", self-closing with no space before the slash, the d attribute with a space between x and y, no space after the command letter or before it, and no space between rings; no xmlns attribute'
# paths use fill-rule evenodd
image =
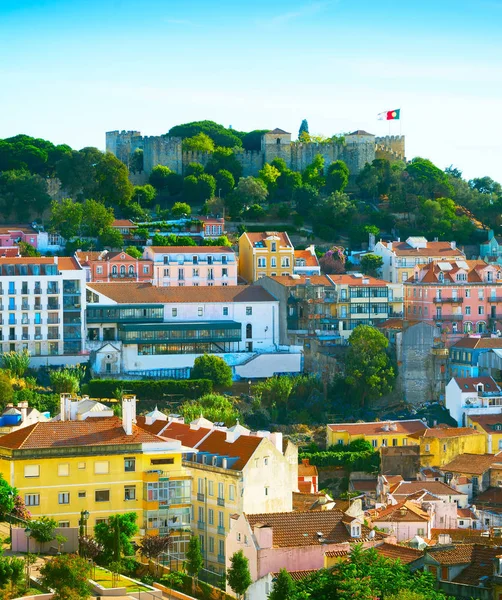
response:
<svg viewBox="0 0 502 600"><path fill-rule="evenodd" d="M139 131L108 131L106 150L129 165L132 153L143 150L143 169L149 175L156 165L163 165L183 175L186 166L198 162L206 166L211 158L209 152L184 152L182 139L169 135L142 136ZM405 160L404 135L375 137L366 131L357 130L345 136L345 140L328 143L292 142L291 134L274 129L263 134L261 149L236 150L245 177L258 175L265 163L282 158L288 168L303 171L317 154L324 157L326 165L343 160L352 176L357 175L366 163L375 158L391 161Z"/></svg>

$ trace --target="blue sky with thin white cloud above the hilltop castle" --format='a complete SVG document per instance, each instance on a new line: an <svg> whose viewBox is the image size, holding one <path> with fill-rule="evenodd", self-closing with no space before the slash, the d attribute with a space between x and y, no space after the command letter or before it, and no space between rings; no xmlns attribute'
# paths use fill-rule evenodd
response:
<svg viewBox="0 0 502 600"><path fill-rule="evenodd" d="M0 0L0 138L385 135L401 108L409 158L501 181L501 31L502 0Z"/></svg>

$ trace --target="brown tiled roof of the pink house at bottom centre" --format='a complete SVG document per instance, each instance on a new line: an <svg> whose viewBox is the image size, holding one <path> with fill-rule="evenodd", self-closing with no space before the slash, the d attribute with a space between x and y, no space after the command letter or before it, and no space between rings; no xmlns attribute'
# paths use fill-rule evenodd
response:
<svg viewBox="0 0 502 600"><path fill-rule="evenodd" d="M334 508L324 511L265 513L245 515L251 528L261 525L272 528L274 548L320 546L343 542L368 541L370 529L361 525L361 537L353 538L350 528L343 523L344 513ZM318 536L322 532L322 537ZM375 532L375 540L386 536Z"/></svg>

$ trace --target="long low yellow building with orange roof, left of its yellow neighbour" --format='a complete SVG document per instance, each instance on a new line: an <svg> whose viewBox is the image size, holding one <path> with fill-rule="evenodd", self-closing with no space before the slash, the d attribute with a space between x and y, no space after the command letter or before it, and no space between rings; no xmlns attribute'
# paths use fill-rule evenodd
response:
<svg viewBox="0 0 502 600"><path fill-rule="evenodd" d="M346 446L354 440L366 440L374 448L417 446L417 435L427 430L420 419L375 421L372 423L333 423L327 426L327 446Z"/></svg>

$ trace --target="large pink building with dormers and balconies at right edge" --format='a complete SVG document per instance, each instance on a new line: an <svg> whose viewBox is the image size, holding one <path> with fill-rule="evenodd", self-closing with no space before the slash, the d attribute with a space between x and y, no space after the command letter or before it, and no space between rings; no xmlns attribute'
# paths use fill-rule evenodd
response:
<svg viewBox="0 0 502 600"><path fill-rule="evenodd" d="M416 265L404 283L405 318L435 323L451 343L502 328L502 267L482 260Z"/></svg>

